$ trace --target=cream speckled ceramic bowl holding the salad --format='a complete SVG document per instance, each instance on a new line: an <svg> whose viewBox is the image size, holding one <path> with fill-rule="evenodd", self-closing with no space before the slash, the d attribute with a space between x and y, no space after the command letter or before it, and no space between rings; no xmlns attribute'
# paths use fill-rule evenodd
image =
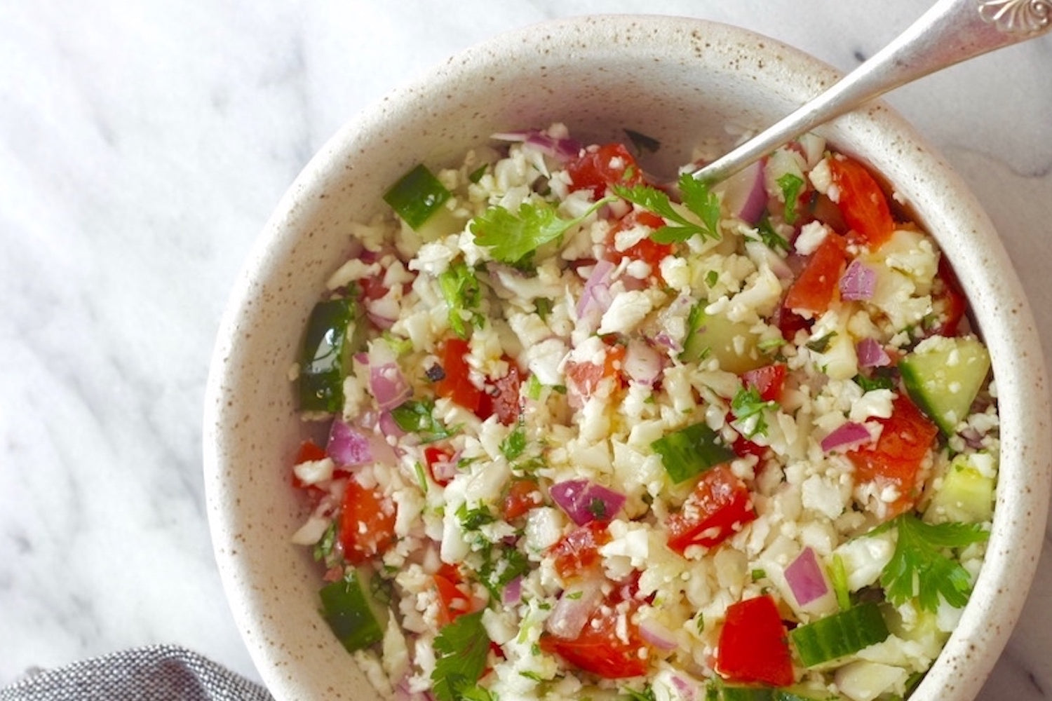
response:
<svg viewBox="0 0 1052 701"><path fill-rule="evenodd" d="M760 127L833 82L812 58L740 28L656 17L592 17L501 36L391 92L348 123L297 179L235 284L204 424L216 557L245 643L282 700L376 697L317 611L319 572L289 536L300 513L288 468L301 439L287 371L304 321L346 248L345 225L381 207L413 164L453 163L497 131L568 124L583 141L631 128L663 144L670 171L728 125ZM1045 364L997 233L948 166L884 106L821 130L883 173L956 267L993 357L1003 463L988 560L960 624L912 697L977 694L1018 616L1049 496Z"/></svg>

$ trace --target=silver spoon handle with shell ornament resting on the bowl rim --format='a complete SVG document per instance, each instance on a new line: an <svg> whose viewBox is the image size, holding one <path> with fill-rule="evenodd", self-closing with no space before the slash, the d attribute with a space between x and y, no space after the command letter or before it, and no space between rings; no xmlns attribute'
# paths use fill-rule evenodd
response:
<svg viewBox="0 0 1052 701"><path fill-rule="evenodd" d="M778 146L918 78L1052 29L1052 0L939 0L832 87L691 174L722 181Z"/></svg>

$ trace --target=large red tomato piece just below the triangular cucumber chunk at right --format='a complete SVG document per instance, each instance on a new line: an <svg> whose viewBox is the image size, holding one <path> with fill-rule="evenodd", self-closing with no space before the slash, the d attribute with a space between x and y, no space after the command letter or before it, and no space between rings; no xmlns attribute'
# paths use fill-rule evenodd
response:
<svg viewBox="0 0 1052 701"><path fill-rule="evenodd" d="M925 416L908 396L901 394L891 405L891 416L878 419L884 425L875 442L847 453L854 465L855 480L890 484L898 491L889 516L911 508L918 496L917 475L938 428Z"/></svg>

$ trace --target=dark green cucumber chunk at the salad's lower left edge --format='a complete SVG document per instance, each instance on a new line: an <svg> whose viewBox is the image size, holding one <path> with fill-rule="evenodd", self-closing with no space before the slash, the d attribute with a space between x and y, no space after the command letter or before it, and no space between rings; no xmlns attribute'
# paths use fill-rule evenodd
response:
<svg viewBox="0 0 1052 701"><path fill-rule="evenodd" d="M390 613L376 600L371 585L372 573L363 566L321 590L325 620L350 652L368 647L384 637Z"/></svg>

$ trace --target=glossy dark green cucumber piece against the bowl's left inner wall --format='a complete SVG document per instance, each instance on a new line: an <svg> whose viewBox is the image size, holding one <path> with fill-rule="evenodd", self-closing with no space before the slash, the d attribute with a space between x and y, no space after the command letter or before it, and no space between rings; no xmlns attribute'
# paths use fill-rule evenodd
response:
<svg viewBox="0 0 1052 701"><path fill-rule="evenodd" d="M343 380L365 342L362 306L343 297L315 305L300 352L300 410L343 408Z"/></svg>

